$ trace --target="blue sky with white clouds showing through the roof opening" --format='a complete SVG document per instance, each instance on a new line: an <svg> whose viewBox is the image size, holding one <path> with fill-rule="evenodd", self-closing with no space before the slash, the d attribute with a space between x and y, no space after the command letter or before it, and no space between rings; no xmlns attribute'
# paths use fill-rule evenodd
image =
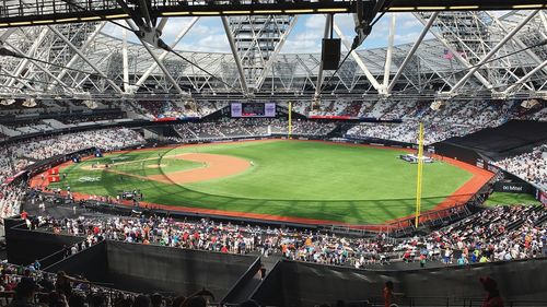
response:
<svg viewBox="0 0 547 307"><path fill-rule="evenodd" d="M416 40L423 28L420 21L411 13L387 13L375 24L371 35L364 40L360 49L387 46L392 15L395 15L396 20L395 45ZM171 44L177 33L190 23L190 20L191 17L170 19L162 34L163 40ZM344 36L351 42L354 37L352 15L337 14L335 23L344 33ZM294 28L287 37L281 52L321 52L324 27L324 15L300 15ZM108 23L103 32L121 38L121 27L115 24ZM335 36L337 36L336 33ZM428 37L431 37L431 35L428 35ZM132 34L129 34L128 39L138 42ZM230 45L221 19L218 16L200 17L175 48L188 51L230 52Z"/></svg>

